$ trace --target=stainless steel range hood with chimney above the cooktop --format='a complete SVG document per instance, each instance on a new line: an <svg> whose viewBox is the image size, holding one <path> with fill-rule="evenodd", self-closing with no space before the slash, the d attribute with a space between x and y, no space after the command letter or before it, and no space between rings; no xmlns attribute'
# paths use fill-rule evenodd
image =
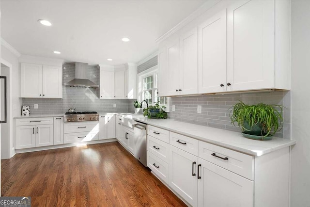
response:
<svg viewBox="0 0 310 207"><path fill-rule="evenodd" d="M76 77L67 83L65 86L81 87L81 88L98 88L93 81L88 79L88 63L76 62Z"/></svg>

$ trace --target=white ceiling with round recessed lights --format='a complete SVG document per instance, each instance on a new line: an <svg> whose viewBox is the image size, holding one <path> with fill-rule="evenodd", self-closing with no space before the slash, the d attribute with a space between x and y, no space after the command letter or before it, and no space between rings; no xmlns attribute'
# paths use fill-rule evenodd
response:
<svg viewBox="0 0 310 207"><path fill-rule="evenodd" d="M138 63L157 50L156 38L204 2L1 0L1 37L21 54L89 64ZM43 26L38 19L49 20L52 26ZM125 43L123 37L131 41Z"/></svg>

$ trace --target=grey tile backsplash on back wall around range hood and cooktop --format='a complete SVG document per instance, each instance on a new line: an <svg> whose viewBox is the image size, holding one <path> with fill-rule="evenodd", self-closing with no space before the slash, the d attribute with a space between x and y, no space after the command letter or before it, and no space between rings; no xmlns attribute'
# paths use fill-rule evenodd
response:
<svg viewBox="0 0 310 207"><path fill-rule="evenodd" d="M63 83L75 78L75 64L63 64ZM99 85L99 68L89 66L89 79ZM133 99L99 99L99 88L62 87L62 98L23 98L23 105L29 105L31 114L64 113L69 108L76 111L134 112ZM113 104L116 107L113 107ZM34 109L38 104L38 109ZM132 105L132 106L131 106Z"/></svg>

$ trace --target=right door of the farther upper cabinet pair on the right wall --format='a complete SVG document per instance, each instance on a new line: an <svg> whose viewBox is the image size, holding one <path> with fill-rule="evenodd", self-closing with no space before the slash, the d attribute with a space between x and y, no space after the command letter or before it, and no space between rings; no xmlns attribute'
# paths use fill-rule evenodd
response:
<svg viewBox="0 0 310 207"><path fill-rule="evenodd" d="M180 95L198 93L198 29L180 37Z"/></svg>

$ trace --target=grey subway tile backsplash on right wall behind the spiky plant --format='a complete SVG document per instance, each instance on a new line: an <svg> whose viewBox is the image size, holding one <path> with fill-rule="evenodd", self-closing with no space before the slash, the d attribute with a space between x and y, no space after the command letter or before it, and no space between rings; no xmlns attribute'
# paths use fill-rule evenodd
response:
<svg viewBox="0 0 310 207"><path fill-rule="evenodd" d="M291 139L290 91L171 97L169 117L187 123L240 131L239 127L232 126L230 119L230 108L239 100L246 104L263 102L285 106L284 125L276 136ZM175 105L175 111L172 111L172 105ZM197 113L198 105L202 106L202 113Z"/></svg>

